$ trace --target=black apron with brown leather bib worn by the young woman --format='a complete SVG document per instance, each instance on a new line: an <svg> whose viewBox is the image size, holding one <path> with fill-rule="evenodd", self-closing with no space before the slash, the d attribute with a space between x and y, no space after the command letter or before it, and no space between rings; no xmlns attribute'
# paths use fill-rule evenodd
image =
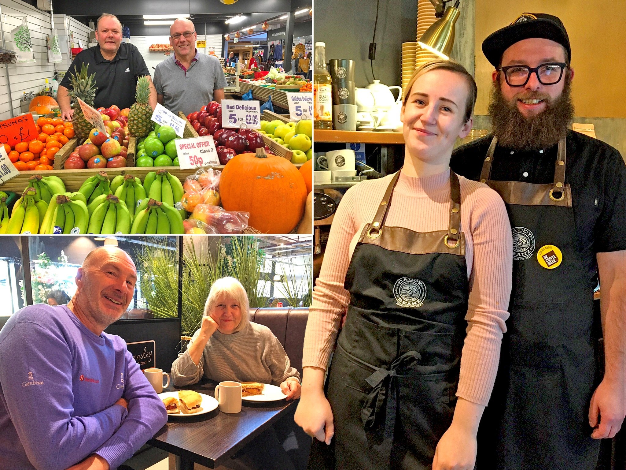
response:
<svg viewBox="0 0 626 470"><path fill-rule="evenodd" d="M399 174L347 270L326 384L335 435L331 446L314 439L310 469L430 469L452 422L468 308L458 177L448 230L421 233L384 225Z"/></svg>

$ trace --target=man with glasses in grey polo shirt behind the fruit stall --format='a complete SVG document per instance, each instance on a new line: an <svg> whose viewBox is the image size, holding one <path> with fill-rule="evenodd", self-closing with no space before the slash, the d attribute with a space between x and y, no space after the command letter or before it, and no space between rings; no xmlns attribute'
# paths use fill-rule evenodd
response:
<svg viewBox="0 0 626 470"><path fill-rule="evenodd" d="M193 23L179 18L170 26L174 55L156 66L156 100L168 110L185 115L199 111L210 101L222 102L227 85L217 57L200 54L195 48Z"/></svg>

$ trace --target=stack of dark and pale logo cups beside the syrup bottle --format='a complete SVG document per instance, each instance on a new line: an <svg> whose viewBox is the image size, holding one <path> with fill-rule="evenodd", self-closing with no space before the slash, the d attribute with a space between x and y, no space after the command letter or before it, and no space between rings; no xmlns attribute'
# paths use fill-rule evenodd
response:
<svg viewBox="0 0 626 470"><path fill-rule="evenodd" d="M335 130L356 130L354 97L354 61L331 59L332 123Z"/></svg>

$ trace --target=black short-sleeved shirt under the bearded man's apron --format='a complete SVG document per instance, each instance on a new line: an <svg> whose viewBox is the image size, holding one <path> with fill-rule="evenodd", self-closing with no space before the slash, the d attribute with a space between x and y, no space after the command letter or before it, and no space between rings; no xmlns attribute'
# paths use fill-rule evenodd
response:
<svg viewBox="0 0 626 470"><path fill-rule="evenodd" d="M468 179L479 180L492 138L488 135L455 149L451 169ZM557 145L543 150L513 151L498 144L491 179L552 183L556 160ZM586 268L589 285L595 288L595 254L626 249L626 165L617 149L568 130L565 183L572 187L578 249L583 259L593 259ZM589 254L593 256L587 257Z"/></svg>

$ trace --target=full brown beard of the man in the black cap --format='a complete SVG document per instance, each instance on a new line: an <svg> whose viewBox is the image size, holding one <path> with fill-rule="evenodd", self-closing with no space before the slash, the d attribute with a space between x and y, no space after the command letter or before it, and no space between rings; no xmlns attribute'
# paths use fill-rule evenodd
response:
<svg viewBox="0 0 626 470"><path fill-rule="evenodd" d="M500 77L493 82L489 115L491 132L498 137L498 144L513 150L549 149L557 144L574 117L570 75L565 71L565 85L561 95L551 100L546 93L523 91L513 97L510 103L502 95ZM545 100L544 111L525 117L517 108L520 99Z"/></svg>

